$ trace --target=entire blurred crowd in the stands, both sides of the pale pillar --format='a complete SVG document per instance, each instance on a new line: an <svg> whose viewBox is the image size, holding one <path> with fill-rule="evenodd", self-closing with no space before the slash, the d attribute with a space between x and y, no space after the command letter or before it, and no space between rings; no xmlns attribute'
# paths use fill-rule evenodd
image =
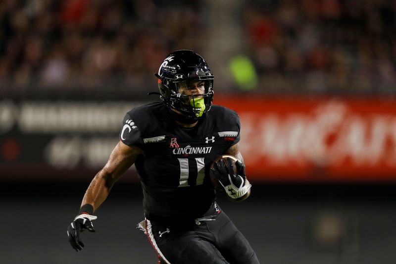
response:
<svg viewBox="0 0 396 264"><path fill-rule="evenodd" d="M395 93L394 0L241 6L255 90ZM147 86L170 51L208 49L216 36L207 8L203 0L1 0L0 88Z"/></svg>

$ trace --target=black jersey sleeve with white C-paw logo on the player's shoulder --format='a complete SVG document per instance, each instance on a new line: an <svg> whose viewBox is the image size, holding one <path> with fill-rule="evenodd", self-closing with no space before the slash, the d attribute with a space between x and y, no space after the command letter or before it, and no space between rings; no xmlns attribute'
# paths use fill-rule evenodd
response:
<svg viewBox="0 0 396 264"><path fill-rule="evenodd" d="M132 115L132 116L131 116ZM137 120L133 118L133 111L128 112L122 121L120 140L128 146L141 147L143 145L142 133Z"/></svg>

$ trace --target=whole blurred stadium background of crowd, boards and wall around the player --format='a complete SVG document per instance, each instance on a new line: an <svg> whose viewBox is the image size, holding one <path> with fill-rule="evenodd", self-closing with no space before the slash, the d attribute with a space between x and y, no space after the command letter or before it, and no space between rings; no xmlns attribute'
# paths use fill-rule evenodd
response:
<svg viewBox="0 0 396 264"><path fill-rule="evenodd" d="M395 263L395 33L392 0L2 0L0 262L156 261L133 168L82 252L66 226L162 59L191 49L241 116L252 196L219 203L260 262Z"/></svg>

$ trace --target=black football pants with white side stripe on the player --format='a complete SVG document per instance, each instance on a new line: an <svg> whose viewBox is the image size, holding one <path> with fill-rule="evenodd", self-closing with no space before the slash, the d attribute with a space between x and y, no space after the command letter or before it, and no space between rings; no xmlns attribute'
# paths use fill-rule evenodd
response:
<svg viewBox="0 0 396 264"><path fill-rule="evenodd" d="M189 224L164 225L147 221L146 230L150 242L165 262L259 264L246 238L225 212L216 205L205 215L206 220L196 220Z"/></svg>

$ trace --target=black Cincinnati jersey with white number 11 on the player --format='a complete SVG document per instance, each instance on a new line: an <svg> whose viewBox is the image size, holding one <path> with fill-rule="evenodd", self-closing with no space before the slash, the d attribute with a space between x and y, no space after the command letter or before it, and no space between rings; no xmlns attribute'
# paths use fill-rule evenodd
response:
<svg viewBox="0 0 396 264"><path fill-rule="evenodd" d="M212 106L196 133L178 125L163 103L129 111L120 140L144 151L135 166L141 179L145 216L152 221L196 218L215 199L209 168L215 158L240 139L238 114Z"/></svg>

